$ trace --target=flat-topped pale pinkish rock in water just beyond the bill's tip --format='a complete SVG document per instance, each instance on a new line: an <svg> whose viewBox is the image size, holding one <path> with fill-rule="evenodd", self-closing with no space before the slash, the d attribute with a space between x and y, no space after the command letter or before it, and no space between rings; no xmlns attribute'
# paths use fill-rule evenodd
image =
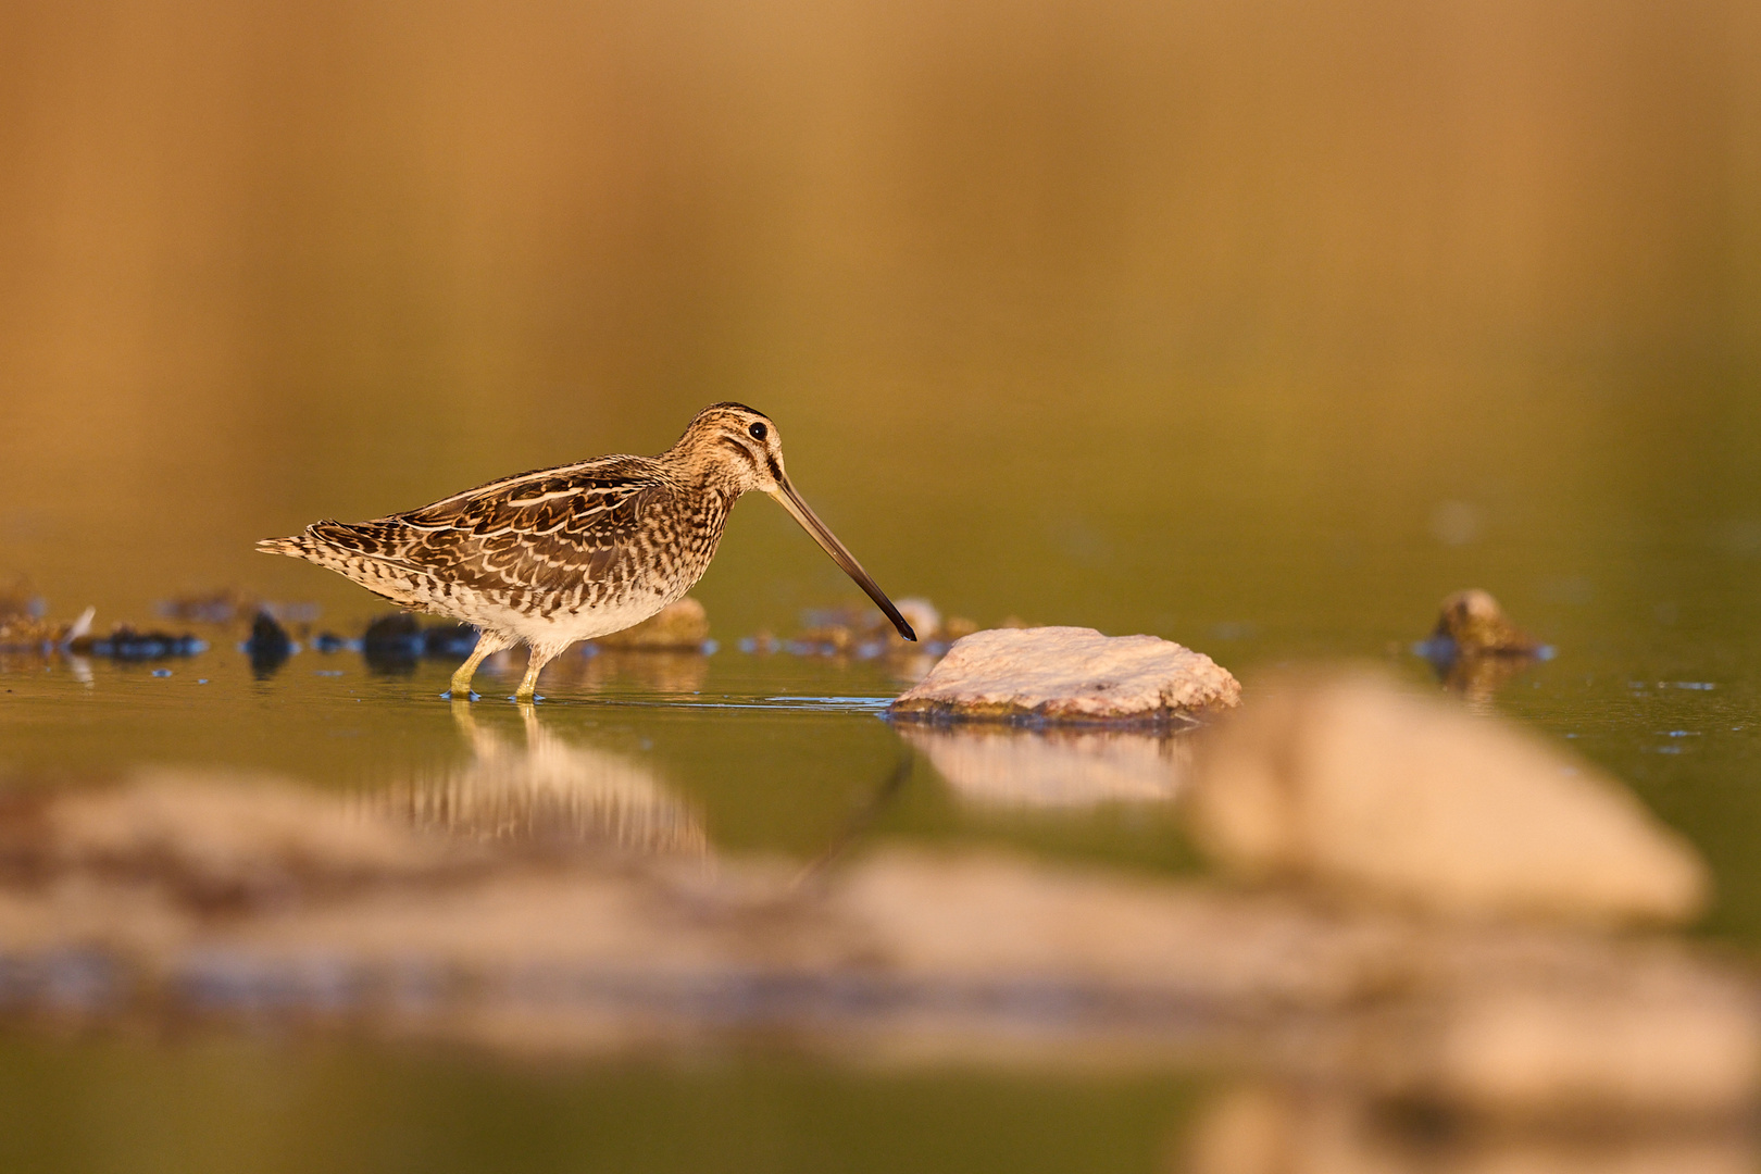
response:
<svg viewBox="0 0 1761 1174"><path fill-rule="evenodd" d="M1094 628L991 628L958 641L888 709L962 722L1162 722L1233 708L1242 686L1205 653Z"/></svg>

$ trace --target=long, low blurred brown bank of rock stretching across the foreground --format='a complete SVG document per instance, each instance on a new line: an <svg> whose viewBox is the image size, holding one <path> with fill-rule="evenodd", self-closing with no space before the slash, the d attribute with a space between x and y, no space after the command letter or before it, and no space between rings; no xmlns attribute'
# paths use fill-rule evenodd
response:
<svg viewBox="0 0 1761 1174"><path fill-rule="evenodd" d="M555 855L403 803L166 773L0 804L0 1009L535 1053L1219 1065L1513 1121L1756 1104L1754 984L1666 940L884 852ZM472 824L472 820L467 820Z"/></svg>

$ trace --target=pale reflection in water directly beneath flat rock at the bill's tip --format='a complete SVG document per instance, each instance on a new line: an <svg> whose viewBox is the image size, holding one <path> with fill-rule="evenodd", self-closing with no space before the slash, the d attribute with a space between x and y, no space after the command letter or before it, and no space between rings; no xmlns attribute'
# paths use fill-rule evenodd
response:
<svg viewBox="0 0 1761 1174"><path fill-rule="evenodd" d="M990 806L1166 803L1178 796L1192 760L1185 734L907 722L895 729L930 759L962 799Z"/></svg>

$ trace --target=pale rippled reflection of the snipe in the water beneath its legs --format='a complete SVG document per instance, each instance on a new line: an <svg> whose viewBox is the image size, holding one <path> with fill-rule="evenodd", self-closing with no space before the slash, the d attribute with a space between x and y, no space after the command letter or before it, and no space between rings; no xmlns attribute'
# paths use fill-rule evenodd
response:
<svg viewBox="0 0 1761 1174"><path fill-rule="evenodd" d="M365 796L365 806L470 840L708 855L697 813L652 767L569 743L544 729L535 706L519 713L525 736L514 739L456 702L453 716L470 743L470 762L396 780Z"/></svg>

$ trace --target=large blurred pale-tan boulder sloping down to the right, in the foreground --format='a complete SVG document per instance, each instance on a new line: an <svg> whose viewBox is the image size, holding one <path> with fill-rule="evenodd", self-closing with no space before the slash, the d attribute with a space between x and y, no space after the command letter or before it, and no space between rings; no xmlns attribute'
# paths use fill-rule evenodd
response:
<svg viewBox="0 0 1761 1174"><path fill-rule="evenodd" d="M1618 781L1368 672L1287 678L1213 730L1189 815L1249 878L1451 915L1684 922L1710 877Z"/></svg>

